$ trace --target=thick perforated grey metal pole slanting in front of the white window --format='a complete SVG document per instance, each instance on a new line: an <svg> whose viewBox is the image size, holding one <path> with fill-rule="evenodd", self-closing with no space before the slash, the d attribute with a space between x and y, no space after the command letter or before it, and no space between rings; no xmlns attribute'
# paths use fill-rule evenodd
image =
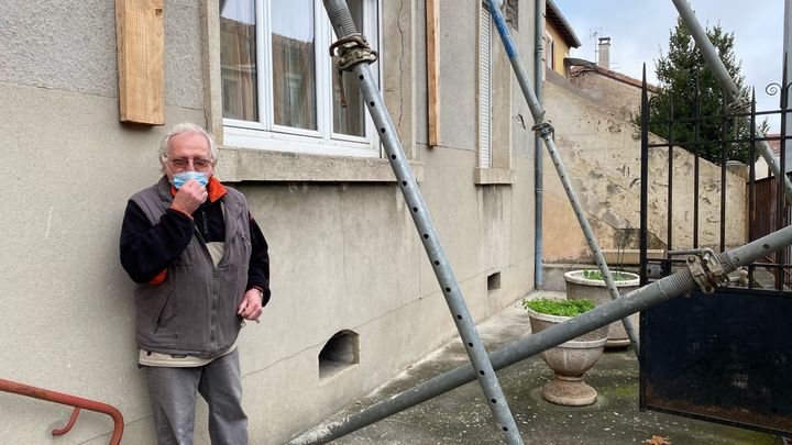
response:
<svg viewBox="0 0 792 445"><path fill-rule="evenodd" d="M336 35L339 37L339 42L333 45L341 48L339 51L339 62L344 60L344 57L349 57L352 60L349 63L349 69L351 69L358 80L366 108L380 132L380 138L385 147L396 179L402 186L402 192L409 205L413 221L424 243L424 248L432 265L435 276L440 283L453 321L457 323L457 329L464 342L471 364L476 370L475 375L479 383L486 396L486 404L490 407L506 443L522 444L517 424L506 402L506 397L501 389L495 370L479 337L479 333L473 324L473 318L462 299L462 292L459 289L449 260L440 244L435 225L429 216L429 211L418 189L418 183L407 163L402 144L396 137L396 129L385 108L385 102L382 100L369 63L366 63L373 62L373 58L365 58L365 49L367 49L364 43L365 41L352 21L352 15L350 14L345 0L323 0L323 2L330 22L336 30ZM371 52L369 52L369 54L371 54ZM339 64L339 66L343 65Z"/></svg>

